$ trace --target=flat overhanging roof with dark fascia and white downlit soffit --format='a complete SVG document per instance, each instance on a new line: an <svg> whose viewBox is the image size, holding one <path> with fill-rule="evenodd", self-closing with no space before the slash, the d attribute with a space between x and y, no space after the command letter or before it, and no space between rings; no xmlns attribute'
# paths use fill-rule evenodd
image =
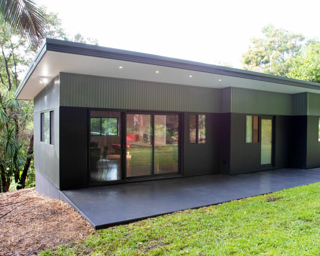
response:
<svg viewBox="0 0 320 256"><path fill-rule="evenodd" d="M123 67L123 68L119 68ZM156 73L156 71L159 71ZM33 100L59 72L209 88L240 87L295 94L320 93L320 84L238 68L46 38L15 97Z"/></svg>

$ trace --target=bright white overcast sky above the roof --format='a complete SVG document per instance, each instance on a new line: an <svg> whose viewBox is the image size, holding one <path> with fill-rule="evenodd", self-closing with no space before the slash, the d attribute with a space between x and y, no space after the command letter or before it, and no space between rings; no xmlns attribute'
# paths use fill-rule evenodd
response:
<svg viewBox="0 0 320 256"><path fill-rule="evenodd" d="M38 1L59 13L68 34L97 38L101 46L234 68L267 24L320 38L316 0Z"/></svg>

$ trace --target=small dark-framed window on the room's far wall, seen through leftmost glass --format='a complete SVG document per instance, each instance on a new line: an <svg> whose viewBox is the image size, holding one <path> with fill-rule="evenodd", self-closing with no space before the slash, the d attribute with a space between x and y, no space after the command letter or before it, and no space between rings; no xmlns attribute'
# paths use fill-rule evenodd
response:
<svg viewBox="0 0 320 256"><path fill-rule="evenodd" d="M118 118L116 117L91 117L91 136L118 136Z"/></svg>

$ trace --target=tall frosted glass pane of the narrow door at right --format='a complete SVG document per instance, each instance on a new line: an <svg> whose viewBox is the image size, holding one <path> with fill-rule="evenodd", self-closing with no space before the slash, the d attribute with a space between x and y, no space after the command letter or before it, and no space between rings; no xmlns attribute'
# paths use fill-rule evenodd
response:
<svg viewBox="0 0 320 256"><path fill-rule="evenodd" d="M272 164L272 119L261 119L261 164Z"/></svg>

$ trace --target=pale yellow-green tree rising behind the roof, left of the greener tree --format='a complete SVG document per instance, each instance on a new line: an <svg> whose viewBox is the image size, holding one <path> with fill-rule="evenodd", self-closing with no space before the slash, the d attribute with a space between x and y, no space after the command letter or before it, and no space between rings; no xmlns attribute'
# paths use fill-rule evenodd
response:
<svg viewBox="0 0 320 256"><path fill-rule="evenodd" d="M252 38L248 52L242 56L243 68L272 75L286 76L297 56L308 43L305 36L267 25L264 38Z"/></svg>

